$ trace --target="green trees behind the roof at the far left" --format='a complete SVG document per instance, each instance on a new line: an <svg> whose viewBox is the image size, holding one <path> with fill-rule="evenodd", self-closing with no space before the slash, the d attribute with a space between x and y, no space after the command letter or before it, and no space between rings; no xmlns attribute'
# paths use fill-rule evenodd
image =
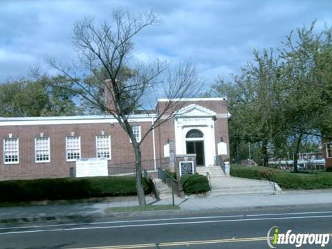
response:
<svg viewBox="0 0 332 249"><path fill-rule="evenodd" d="M0 116L72 116L82 113L75 95L56 89L46 82L66 82L62 77L16 80L0 84ZM65 84L68 84L65 83Z"/></svg>

